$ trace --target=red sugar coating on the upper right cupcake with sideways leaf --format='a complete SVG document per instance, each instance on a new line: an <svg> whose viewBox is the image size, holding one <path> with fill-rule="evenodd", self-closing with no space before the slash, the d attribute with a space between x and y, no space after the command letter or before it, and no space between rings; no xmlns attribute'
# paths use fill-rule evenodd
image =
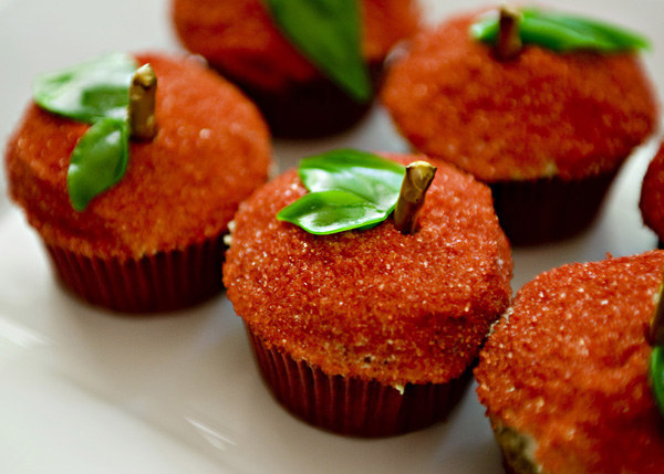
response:
<svg viewBox="0 0 664 474"><path fill-rule="evenodd" d="M651 134L656 104L632 54L526 46L497 61L477 14L415 38L382 99L413 146L483 181L583 178L616 169Z"/></svg>

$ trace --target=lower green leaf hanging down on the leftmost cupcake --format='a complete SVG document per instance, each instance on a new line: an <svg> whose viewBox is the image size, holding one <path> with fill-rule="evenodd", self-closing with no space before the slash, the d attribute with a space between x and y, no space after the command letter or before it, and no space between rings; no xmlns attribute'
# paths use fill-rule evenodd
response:
<svg viewBox="0 0 664 474"><path fill-rule="evenodd" d="M126 120L97 120L72 151L66 187L72 207L83 211L95 196L122 179L128 161Z"/></svg>

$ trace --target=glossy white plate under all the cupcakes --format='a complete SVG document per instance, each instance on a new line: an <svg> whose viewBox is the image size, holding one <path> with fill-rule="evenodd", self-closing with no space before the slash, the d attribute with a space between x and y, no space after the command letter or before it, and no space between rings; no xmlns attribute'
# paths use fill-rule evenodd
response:
<svg viewBox="0 0 664 474"><path fill-rule="evenodd" d="M429 19L483 4L428 3ZM647 66L664 86L664 2L550 3L646 33L654 43ZM179 51L166 0L0 0L2 141L35 73L123 50ZM276 152L286 168L340 145L405 149L376 107L345 135L277 143ZM637 210L654 146L623 169L591 231L515 251L515 289L567 262L654 247ZM501 472L473 390L447 422L430 429L386 440L338 436L301 423L272 400L225 297L156 319L121 318L72 299L54 284L41 244L0 183L0 472Z"/></svg>

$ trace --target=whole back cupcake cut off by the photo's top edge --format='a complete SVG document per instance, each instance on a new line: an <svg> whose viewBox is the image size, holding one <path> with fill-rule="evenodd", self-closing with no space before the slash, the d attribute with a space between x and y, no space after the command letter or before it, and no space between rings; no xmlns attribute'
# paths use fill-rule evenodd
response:
<svg viewBox="0 0 664 474"><path fill-rule="evenodd" d="M418 23L414 0L320 3L174 0L172 17L183 44L240 85L276 135L314 137L364 116L383 60Z"/></svg>

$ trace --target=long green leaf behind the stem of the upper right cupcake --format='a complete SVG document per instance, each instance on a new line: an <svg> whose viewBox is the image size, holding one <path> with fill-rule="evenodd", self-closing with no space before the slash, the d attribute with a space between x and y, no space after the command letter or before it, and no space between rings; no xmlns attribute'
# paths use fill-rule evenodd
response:
<svg viewBox="0 0 664 474"><path fill-rule="evenodd" d="M492 13L473 23L473 38L496 43L499 21L498 15ZM613 53L650 48L644 36L620 27L537 9L521 10L519 35L523 44L537 44L557 52L587 50Z"/></svg>

